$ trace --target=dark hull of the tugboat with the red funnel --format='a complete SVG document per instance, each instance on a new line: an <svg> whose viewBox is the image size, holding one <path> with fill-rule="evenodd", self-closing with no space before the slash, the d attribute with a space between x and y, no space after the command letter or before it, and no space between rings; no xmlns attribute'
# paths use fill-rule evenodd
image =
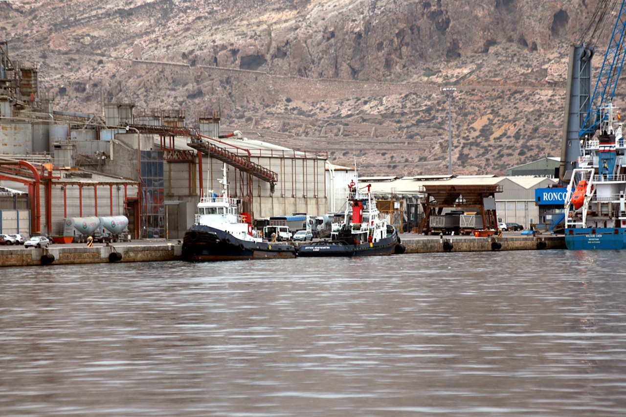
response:
<svg viewBox="0 0 626 417"><path fill-rule="evenodd" d="M322 240L302 245L298 250L298 257L393 255L402 254L404 250L398 235L394 232L392 236L376 243L347 244L342 240Z"/></svg>

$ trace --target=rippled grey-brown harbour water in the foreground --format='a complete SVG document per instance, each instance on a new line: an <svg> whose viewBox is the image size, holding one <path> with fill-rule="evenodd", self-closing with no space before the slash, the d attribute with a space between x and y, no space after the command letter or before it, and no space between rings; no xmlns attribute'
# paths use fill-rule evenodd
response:
<svg viewBox="0 0 626 417"><path fill-rule="evenodd" d="M3 268L3 415L626 415L626 251Z"/></svg>

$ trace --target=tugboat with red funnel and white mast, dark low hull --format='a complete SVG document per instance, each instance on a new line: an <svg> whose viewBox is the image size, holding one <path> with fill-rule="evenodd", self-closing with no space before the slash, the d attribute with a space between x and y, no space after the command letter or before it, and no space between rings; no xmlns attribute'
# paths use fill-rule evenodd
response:
<svg viewBox="0 0 626 417"><path fill-rule="evenodd" d="M332 224L331 239L302 245L298 257L365 256L403 254L396 228L388 224L376 208L371 184L359 188L359 177L348 184L346 212L341 222ZM367 188L367 190L366 190Z"/></svg>

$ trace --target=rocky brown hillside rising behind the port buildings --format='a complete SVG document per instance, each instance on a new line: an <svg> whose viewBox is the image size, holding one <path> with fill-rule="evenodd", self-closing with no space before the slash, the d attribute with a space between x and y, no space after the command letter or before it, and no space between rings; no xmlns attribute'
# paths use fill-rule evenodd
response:
<svg viewBox="0 0 626 417"><path fill-rule="evenodd" d="M568 46L595 4L19 1L0 3L0 28L58 110L128 98L184 108L188 125L220 110L223 130L357 158L366 175L448 171L453 85L454 173L501 174L558 156Z"/></svg>

